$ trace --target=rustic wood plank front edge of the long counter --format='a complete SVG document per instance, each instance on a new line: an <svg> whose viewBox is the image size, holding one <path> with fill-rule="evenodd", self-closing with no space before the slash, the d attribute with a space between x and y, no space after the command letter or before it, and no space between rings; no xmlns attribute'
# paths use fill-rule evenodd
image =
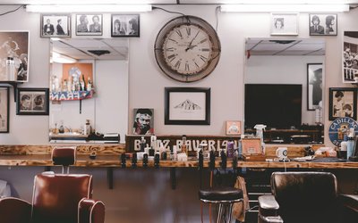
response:
<svg viewBox="0 0 358 223"><path fill-rule="evenodd" d="M55 146L64 145L0 145L1 166L53 166L51 151ZM120 154L124 153L124 145L75 145L77 146L76 167L121 167ZM98 153L96 159L90 159L90 153ZM220 167L220 158L216 167ZM232 161L227 161L231 168ZM126 161L126 167L132 162ZM138 161L137 167L142 167ZM149 167L154 167L154 161L149 161ZM198 168L196 159L189 161L159 161L159 167L164 168ZM209 167L209 161L204 161L204 167ZM239 168L303 168L303 169L358 169L358 162L299 162L299 161L238 161Z"/></svg>

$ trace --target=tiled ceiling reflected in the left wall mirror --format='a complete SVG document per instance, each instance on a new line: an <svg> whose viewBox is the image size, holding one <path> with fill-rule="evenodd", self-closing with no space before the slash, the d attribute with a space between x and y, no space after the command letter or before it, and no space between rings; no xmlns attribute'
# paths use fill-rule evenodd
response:
<svg viewBox="0 0 358 223"><path fill-rule="evenodd" d="M128 38L52 40L52 51L76 60L128 60Z"/></svg>

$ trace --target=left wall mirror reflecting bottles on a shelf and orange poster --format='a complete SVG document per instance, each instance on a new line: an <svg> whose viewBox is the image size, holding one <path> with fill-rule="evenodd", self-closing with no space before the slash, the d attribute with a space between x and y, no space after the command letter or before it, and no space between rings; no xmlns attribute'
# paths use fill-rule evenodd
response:
<svg viewBox="0 0 358 223"><path fill-rule="evenodd" d="M123 143L128 39L51 39L50 55L50 142L115 143L119 134ZM103 137L89 137L90 132Z"/></svg>

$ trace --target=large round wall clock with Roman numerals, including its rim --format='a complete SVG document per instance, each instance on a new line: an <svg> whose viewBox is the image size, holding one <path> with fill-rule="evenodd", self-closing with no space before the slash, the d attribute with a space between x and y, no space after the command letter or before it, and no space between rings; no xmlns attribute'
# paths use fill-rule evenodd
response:
<svg viewBox="0 0 358 223"><path fill-rule="evenodd" d="M217 66L220 48L215 29L207 21L189 15L168 21L154 45L160 69L182 82L207 77Z"/></svg>

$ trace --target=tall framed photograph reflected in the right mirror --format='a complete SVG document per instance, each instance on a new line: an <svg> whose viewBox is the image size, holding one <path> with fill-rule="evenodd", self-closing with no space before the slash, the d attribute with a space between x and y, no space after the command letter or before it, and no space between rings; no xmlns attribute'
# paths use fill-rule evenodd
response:
<svg viewBox="0 0 358 223"><path fill-rule="evenodd" d="M307 110L322 107L322 63L307 64Z"/></svg>

